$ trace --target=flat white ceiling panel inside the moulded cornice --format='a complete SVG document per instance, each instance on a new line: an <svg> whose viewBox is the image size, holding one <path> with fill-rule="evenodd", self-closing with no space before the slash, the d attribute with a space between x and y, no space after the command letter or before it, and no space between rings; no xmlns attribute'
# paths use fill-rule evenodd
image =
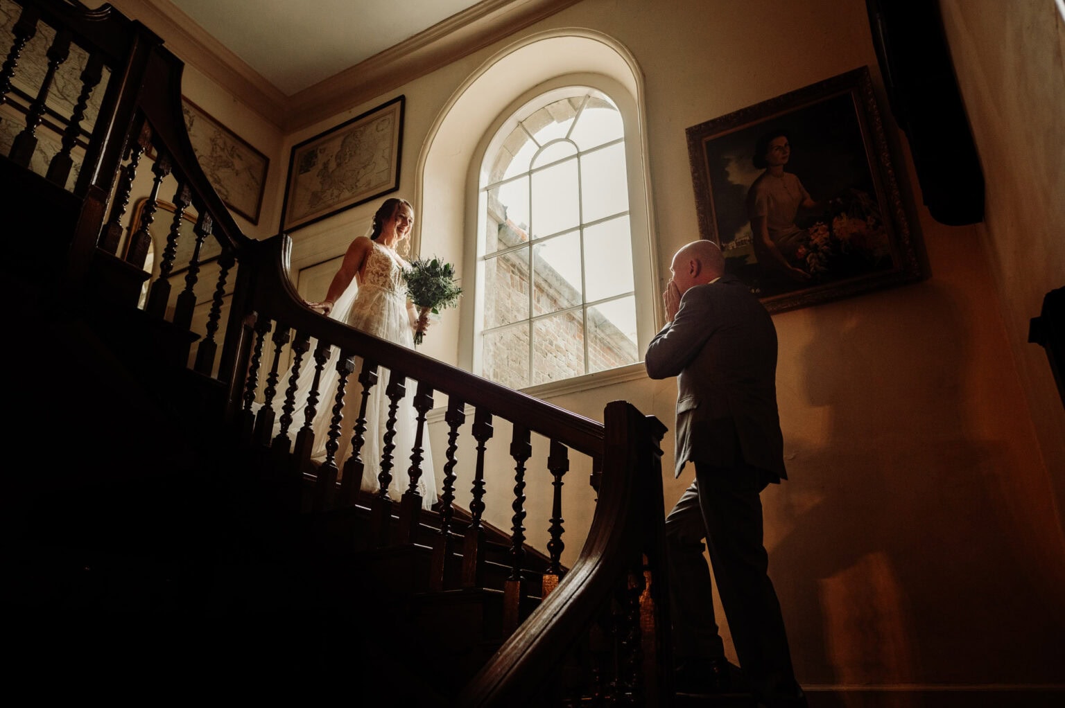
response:
<svg viewBox="0 0 1065 708"><path fill-rule="evenodd" d="M173 4L292 96L479 1L154 0L154 4L164 12Z"/></svg>

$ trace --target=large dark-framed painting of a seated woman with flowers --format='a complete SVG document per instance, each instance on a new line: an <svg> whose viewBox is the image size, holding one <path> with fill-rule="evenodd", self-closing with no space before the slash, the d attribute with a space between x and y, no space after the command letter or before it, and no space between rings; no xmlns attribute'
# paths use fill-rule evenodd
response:
<svg viewBox="0 0 1065 708"><path fill-rule="evenodd" d="M770 312L921 278L868 67L686 134L700 235Z"/></svg>

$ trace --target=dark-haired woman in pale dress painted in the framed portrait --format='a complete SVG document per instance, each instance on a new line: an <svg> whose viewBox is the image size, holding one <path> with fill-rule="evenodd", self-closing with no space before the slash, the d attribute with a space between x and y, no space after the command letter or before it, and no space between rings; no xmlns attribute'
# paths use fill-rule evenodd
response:
<svg viewBox="0 0 1065 708"><path fill-rule="evenodd" d="M810 279L804 256L809 233L796 226L800 209L816 209L818 202L793 174L785 171L791 157L788 133L774 130L755 143L751 162L763 169L747 193L754 253L758 263L792 282Z"/></svg>

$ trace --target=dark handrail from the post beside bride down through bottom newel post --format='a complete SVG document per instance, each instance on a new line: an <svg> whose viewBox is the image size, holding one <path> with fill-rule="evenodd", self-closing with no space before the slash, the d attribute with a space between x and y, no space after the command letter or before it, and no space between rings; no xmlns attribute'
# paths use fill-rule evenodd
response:
<svg viewBox="0 0 1065 708"><path fill-rule="evenodd" d="M643 635L636 631L642 642L638 654L644 663L635 669L635 680L641 684L638 695L641 705L666 705L671 673L667 663L670 652L665 648L669 646L667 603L662 597L660 441L665 426L625 401L609 404L601 425L324 317L305 307L292 285L291 246L291 240L279 234L252 244L244 253L245 269L255 274L244 300L243 311L251 315L243 328L244 362L255 336L255 318L266 317L284 323L301 335L324 339L343 350L388 362L392 371L601 461L600 498L576 564L466 687L459 705L518 706L530 701L529 705L537 705L536 689L557 666L561 651L587 631L596 612L611 602L619 582L629 583L626 575L639 575L650 584L639 608ZM252 266L247 268L248 264ZM234 415L242 412L243 390L239 383L234 381L237 385L230 392Z"/></svg>

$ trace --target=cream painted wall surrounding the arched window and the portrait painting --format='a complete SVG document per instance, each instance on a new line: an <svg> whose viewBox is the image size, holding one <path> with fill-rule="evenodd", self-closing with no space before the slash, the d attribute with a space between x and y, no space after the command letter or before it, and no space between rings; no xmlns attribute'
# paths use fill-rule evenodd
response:
<svg viewBox="0 0 1065 708"><path fill-rule="evenodd" d="M992 0L982 3L987 18L963 13L962 4L947 3L963 92L988 175L1010 178L989 181L987 223L951 228L930 218L905 139L882 101L929 278L774 317L791 479L764 494L766 541L807 686L1065 684L1065 550L1054 505L1061 452L1049 424L1033 424L1033 411L1053 421L1054 401L1037 393L1048 376L1045 359L1023 343L1025 323L1038 311L1035 294L1062 284L1065 262L1060 238L1045 227L1063 223L1061 160L1041 157L1061 145L1053 129L1062 111L1051 115L1061 105L1060 50L1053 59L1061 35L1022 50L1021 29L1031 36L1032 22L993 12ZM1016 6L1036 16L1035 2ZM522 34L562 27L617 38L643 70L660 273L676 247L698 237L686 127L863 65L879 83L861 0L586 0ZM1003 30L1013 44L998 49ZM293 144L405 94L399 194L415 195L417 152L441 108L515 38L285 136L278 162ZM996 49L979 56L988 47ZM992 76L1001 64L1010 70ZM1035 97L1047 96L1048 82L1055 88L1046 106L1033 108L1043 105ZM283 185L274 184L279 208ZM294 232L294 268L341 252L372 209ZM420 215L423 249L438 238L441 248L456 248L462 234L433 233L432 219ZM445 314L439 327L455 323ZM672 381L641 377L551 402L602 419L604 406L619 398L672 428ZM432 443L443 449L439 423ZM671 463L668 438L663 465ZM543 479L542 462L534 464ZM492 468L496 487L509 490L512 465ZM570 479L584 484L587 476ZM689 479L667 476L667 508ZM564 514L568 561L590 523L591 504L579 504Z"/></svg>

